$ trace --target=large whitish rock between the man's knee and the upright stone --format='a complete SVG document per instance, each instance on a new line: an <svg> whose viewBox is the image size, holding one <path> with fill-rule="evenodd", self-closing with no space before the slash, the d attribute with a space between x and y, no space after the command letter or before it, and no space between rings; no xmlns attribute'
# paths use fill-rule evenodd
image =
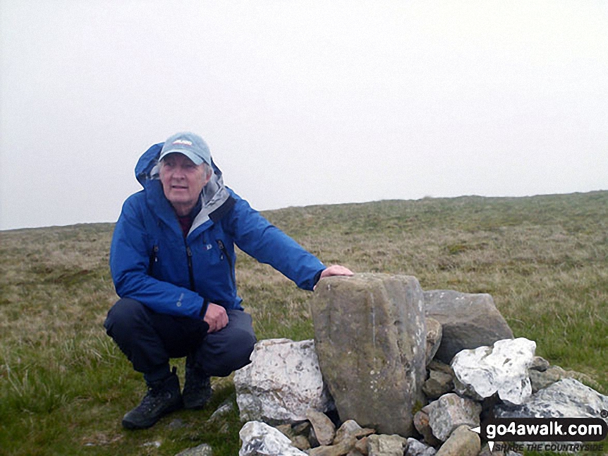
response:
<svg viewBox="0 0 608 456"><path fill-rule="evenodd" d="M308 409L325 412L331 404L312 340L257 342L234 385L241 421L295 423L306 419Z"/></svg>

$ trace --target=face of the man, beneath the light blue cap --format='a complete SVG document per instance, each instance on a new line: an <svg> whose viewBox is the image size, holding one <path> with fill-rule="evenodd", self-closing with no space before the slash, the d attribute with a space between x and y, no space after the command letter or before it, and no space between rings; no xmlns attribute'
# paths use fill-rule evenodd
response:
<svg viewBox="0 0 608 456"><path fill-rule="evenodd" d="M200 191L210 178L206 176L205 164L197 166L178 152L164 157L159 174L164 196L178 215L187 215L194 208Z"/></svg>

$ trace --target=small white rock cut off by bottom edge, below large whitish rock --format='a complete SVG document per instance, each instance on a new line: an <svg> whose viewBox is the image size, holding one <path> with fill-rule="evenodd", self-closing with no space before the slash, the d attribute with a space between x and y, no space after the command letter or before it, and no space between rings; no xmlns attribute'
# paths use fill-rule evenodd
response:
<svg viewBox="0 0 608 456"><path fill-rule="evenodd" d="M261 421L245 423L238 436L243 443L238 456L306 456L279 430Z"/></svg>

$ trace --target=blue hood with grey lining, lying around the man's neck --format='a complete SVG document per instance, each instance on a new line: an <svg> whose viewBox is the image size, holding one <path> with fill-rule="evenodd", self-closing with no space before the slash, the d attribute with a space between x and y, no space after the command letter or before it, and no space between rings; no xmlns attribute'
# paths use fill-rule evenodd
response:
<svg viewBox="0 0 608 456"><path fill-rule="evenodd" d="M158 143L150 146L135 165L135 177L145 190L151 181L159 180L158 163L163 145L164 143ZM213 158L211 167L213 175L201 191L202 210L199 215L202 216L202 219L207 219L214 210L220 208L230 198L230 193L224 186L224 178L221 176L220 169L213 162Z"/></svg>

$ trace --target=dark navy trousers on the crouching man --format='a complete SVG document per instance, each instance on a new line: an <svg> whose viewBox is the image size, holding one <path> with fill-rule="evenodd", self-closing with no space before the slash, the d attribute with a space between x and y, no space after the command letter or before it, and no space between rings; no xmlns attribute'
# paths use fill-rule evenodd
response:
<svg viewBox="0 0 608 456"><path fill-rule="evenodd" d="M156 313L125 298L112 306L104 327L148 382L168 375L169 358L183 356L208 376L225 377L250 363L256 342L251 316L234 309L226 312L228 325L207 333L203 320Z"/></svg>

